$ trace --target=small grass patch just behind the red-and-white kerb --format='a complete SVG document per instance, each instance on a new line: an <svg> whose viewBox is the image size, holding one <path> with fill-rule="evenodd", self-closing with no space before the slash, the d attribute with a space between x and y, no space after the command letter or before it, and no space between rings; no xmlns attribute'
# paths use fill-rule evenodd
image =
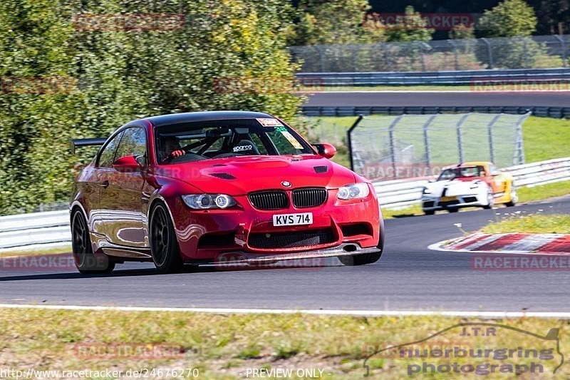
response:
<svg viewBox="0 0 570 380"><path fill-rule="evenodd" d="M568 234L570 215L512 215L504 220L489 223L481 231L490 234L508 232Z"/></svg>

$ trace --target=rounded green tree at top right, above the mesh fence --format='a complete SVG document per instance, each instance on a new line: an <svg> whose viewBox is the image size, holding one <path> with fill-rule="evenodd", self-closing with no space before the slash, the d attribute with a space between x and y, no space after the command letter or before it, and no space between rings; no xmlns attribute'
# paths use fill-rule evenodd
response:
<svg viewBox="0 0 570 380"><path fill-rule="evenodd" d="M523 0L504 0L484 11L480 29L485 37L530 36L537 29L537 15Z"/></svg>

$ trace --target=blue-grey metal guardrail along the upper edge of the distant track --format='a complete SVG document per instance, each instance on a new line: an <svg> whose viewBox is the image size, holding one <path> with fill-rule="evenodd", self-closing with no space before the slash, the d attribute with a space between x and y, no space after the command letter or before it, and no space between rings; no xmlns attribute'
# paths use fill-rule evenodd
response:
<svg viewBox="0 0 570 380"><path fill-rule="evenodd" d="M380 86L380 85L445 85L470 84L484 86L487 82L519 83L524 81L570 81L570 68L517 68L503 70L463 70L431 72L376 73L297 73L300 83L313 86ZM534 82L533 82L534 83Z"/></svg>

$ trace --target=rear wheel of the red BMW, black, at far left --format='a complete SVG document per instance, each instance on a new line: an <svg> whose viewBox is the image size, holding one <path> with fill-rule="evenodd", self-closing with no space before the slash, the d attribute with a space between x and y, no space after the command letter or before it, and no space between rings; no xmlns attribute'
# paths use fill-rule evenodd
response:
<svg viewBox="0 0 570 380"><path fill-rule="evenodd" d="M115 262L105 254L93 255L87 222L83 213L76 210L71 220L71 246L76 267L83 274L110 273L115 269Z"/></svg>

